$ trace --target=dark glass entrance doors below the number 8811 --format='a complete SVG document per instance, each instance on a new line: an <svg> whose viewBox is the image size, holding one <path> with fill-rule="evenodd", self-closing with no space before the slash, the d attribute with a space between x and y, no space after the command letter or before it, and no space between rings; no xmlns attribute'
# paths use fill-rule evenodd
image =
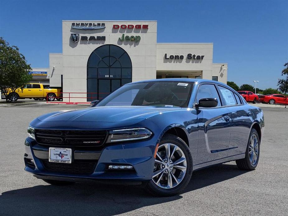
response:
<svg viewBox="0 0 288 216"><path fill-rule="evenodd" d="M97 100L102 100L110 92L113 92L121 86L120 79L98 79L98 96Z"/></svg>

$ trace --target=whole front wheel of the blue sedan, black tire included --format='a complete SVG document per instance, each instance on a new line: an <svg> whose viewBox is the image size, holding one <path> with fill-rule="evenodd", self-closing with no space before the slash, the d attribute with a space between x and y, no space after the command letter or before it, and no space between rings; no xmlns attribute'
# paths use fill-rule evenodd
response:
<svg viewBox="0 0 288 216"><path fill-rule="evenodd" d="M153 176L146 190L156 196L172 196L188 185L193 171L191 152L179 137L164 135L157 149Z"/></svg>

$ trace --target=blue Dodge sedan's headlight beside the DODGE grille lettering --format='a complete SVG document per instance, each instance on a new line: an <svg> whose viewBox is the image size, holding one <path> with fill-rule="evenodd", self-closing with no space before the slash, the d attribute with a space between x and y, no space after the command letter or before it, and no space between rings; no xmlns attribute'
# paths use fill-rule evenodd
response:
<svg viewBox="0 0 288 216"><path fill-rule="evenodd" d="M147 139L152 132L146 128L110 130L107 143Z"/></svg>

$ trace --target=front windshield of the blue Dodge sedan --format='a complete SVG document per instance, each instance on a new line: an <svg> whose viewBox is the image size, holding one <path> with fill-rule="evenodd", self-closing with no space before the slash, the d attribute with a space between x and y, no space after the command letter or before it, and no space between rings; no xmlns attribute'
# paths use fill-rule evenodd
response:
<svg viewBox="0 0 288 216"><path fill-rule="evenodd" d="M194 82L139 82L122 86L97 106L187 107Z"/></svg>

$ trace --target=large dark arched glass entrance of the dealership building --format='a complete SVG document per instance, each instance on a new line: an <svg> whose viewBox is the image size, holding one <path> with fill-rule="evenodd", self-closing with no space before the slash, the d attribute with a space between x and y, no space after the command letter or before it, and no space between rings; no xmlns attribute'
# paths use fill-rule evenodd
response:
<svg viewBox="0 0 288 216"><path fill-rule="evenodd" d="M87 62L87 101L101 100L129 82L132 82L132 63L124 49L103 45L91 53Z"/></svg>

